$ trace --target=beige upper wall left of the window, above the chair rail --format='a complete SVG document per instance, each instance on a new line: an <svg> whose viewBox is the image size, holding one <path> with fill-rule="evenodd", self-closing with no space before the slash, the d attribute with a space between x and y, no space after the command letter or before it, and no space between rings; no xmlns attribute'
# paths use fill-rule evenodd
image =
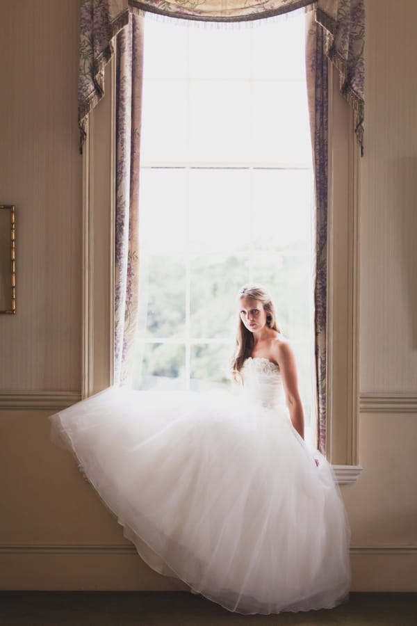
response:
<svg viewBox="0 0 417 626"><path fill-rule="evenodd" d="M17 314L0 316L0 388L79 390L78 0L2 3L0 203L17 207Z"/></svg>

